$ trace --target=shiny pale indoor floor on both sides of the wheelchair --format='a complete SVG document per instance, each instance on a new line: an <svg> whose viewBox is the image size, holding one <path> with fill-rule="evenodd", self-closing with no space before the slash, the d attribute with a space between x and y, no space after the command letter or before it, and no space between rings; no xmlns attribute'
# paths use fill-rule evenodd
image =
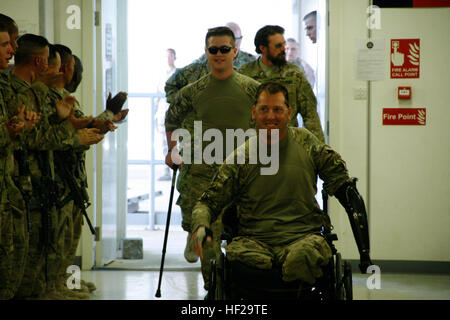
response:
<svg viewBox="0 0 450 320"><path fill-rule="evenodd" d="M450 276L383 274L380 289L368 289L369 275L353 275L354 300L450 300ZM161 298L155 298L158 271L83 271L82 279L97 290L92 300L202 300L200 271L165 271Z"/></svg>

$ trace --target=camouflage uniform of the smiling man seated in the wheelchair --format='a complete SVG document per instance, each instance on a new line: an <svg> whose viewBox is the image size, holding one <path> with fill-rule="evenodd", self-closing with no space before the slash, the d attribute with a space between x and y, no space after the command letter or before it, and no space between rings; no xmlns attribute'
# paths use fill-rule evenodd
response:
<svg viewBox="0 0 450 320"><path fill-rule="evenodd" d="M257 137L251 138L257 140ZM250 140L251 140L250 139ZM279 144L279 170L261 175L249 164L249 141L237 154L245 164L223 164L193 209L192 229L209 228L225 205L237 207L237 231L227 247L230 260L269 269L282 268L285 281L313 283L331 250L319 236L332 228L315 200L317 174L330 195L349 181L345 162L329 146L303 128L288 128ZM236 242L235 242L236 241Z"/></svg>

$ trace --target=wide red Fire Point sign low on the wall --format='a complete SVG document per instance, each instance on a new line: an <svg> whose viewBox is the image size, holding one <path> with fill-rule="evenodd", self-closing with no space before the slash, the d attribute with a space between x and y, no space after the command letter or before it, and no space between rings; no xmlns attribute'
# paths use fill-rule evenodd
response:
<svg viewBox="0 0 450 320"><path fill-rule="evenodd" d="M424 126L426 122L426 108L383 108L383 125Z"/></svg>

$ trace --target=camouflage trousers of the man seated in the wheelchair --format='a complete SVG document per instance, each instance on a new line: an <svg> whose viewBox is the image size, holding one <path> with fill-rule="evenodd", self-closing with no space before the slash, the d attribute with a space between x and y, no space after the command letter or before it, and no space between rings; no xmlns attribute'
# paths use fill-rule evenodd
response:
<svg viewBox="0 0 450 320"><path fill-rule="evenodd" d="M325 239L316 234L301 236L284 246L269 246L248 237L236 237L227 246L227 259L258 269L281 267L284 281L313 284L332 253Z"/></svg>

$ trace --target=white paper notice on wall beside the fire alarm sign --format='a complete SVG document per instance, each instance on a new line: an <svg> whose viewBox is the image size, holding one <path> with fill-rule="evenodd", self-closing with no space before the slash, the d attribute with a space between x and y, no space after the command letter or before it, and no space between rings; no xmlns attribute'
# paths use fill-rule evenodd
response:
<svg viewBox="0 0 450 320"><path fill-rule="evenodd" d="M356 80L386 78L385 39L356 39Z"/></svg>

